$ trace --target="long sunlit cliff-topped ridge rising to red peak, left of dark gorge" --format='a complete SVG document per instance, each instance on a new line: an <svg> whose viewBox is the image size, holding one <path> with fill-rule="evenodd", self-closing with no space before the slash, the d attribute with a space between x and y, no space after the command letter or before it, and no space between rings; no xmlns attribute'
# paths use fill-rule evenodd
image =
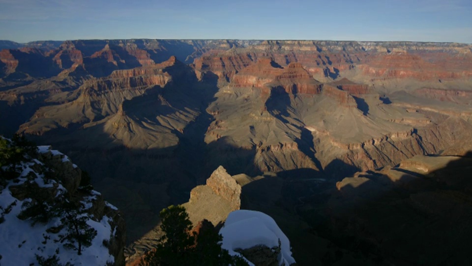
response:
<svg viewBox="0 0 472 266"><path fill-rule="evenodd" d="M162 64L138 67L129 70L116 70L110 76L90 79L79 87L76 98L64 105L48 106L35 114L37 121L48 123L49 119L61 116L60 127L68 128L71 124L83 124L98 121L116 114L125 100L145 94L155 86L164 87L172 81L166 67L176 64L171 57ZM65 115L60 109L74 110ZM122 110L121 110L122 112ZM37 123L25 125L24 132L41 135L49 129Z"/></svg>

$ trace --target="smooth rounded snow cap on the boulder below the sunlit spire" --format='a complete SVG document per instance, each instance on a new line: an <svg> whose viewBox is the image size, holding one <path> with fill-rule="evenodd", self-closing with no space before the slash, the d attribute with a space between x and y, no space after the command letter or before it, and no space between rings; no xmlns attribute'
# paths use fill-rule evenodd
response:
<svg viewBox="0 0 472 266"><path fill-rule="evenodd" d="M230 255L241 256L235 251L236 249L246 249L256 245L265 245L269 248L277 247L280 240L279 265L288 266L295 263L292 251L290 251L289 239L280 230L274 219L262 212L233 211L228 215L220 233L223 236L222 248L228 250Z"/></svg>

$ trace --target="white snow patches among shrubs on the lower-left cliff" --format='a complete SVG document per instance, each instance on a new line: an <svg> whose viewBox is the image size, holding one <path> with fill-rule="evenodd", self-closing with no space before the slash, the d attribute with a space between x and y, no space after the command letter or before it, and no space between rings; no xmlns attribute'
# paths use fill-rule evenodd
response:
<svg viewBox="0 0 472 266"><path fill-rule="evenodd" d="M39 146L39 152L48 152L50 146ZM61 154L58 151L51 151L53 154ZM65 157L67 158L67 157ZM52 187L54 180L46 180L44 174L38 174L30 166L35 164L42 165L37 160L24 162L20 166L21 175L16 179L17 183L9 181L6 187L0 191L0 214L4 221L0 223L0 264L1 265L37 265L35 254L47 259L50 256L57 255L59 263L66 264L70 262L73 265L106 265L107 262L113 263L115 258L109 254L108 248L103 245L104 240L109 241L112 233L110 225L111 219L104 216L101 221L94 221L89 216L87 224L97 231L97 235L92 240L90 247L83 247L82 255L77 255L77 251L67 249L63 243L55 242L60 239L60 234L65 234L66 229L62 229L59 233L47 233L46 230L57 227L61 224L60 218L52 218L47 224L36 223L32 226L30 220L20 220L17 216L22 210L22 205L31 199L19 200L15 199L9 190L12 185L21 185L24 182L35 182L40 188ZM26 178L26 175L33 173L34 180ZM57 197L64 194L66 189L59 184ZM92 195L86 197L83 203L86 207L91 207L91 201L97 199L100 193L92 191ZM11 205L14 203L13 205ZM11 206L9 213L5 213L6 209ZM87 214L84 214L87 215Z"/></svg>

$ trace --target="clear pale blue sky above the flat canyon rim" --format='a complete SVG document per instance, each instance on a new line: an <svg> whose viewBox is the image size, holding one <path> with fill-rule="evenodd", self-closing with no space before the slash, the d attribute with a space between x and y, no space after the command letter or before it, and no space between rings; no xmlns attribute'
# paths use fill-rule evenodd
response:
<svg viewBox="0 0 472 266"><path fill-rule="evenodd" d="M472 0L0 0L0 39L472 43Z"/></svg>

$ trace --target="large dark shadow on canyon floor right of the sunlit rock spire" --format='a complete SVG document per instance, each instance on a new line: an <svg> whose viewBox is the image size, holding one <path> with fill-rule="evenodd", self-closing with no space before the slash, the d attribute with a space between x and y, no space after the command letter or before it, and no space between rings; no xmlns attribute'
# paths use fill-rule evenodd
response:
<svg viewBox="0 0 472 266"><path fill-rule="evenodd" d="M298 265L469 265L471 172L472 153L396 179L368 171L323 181L313 169L289 170L243 186L241 206L274 218Z"/></svg>

